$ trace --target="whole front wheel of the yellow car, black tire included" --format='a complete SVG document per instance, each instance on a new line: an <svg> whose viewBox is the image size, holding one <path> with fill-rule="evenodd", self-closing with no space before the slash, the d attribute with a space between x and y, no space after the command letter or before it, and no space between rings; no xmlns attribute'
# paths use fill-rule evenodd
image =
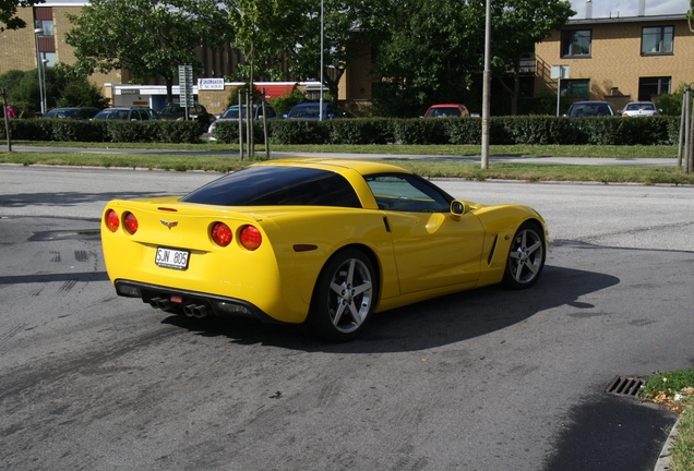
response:
<svg viewBox="0 0 694 471"><path fill-rule="evenodd" d="M511 289L530 288L542 274L546 257L542 228L534 221L522 224L511 242L503 283Z"/></svg>

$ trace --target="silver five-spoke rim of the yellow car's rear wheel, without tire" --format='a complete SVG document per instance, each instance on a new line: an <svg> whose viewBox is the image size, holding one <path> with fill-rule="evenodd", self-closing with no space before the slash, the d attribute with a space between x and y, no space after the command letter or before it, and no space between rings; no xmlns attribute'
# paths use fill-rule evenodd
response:
<svg viewBox="0 0 694 471"><path fill-rule="evenodd" d="M357 330L371 312L373 281L367 265L359 258L347 258L330 283L327 310L333 326L343 334Z"/></svg>

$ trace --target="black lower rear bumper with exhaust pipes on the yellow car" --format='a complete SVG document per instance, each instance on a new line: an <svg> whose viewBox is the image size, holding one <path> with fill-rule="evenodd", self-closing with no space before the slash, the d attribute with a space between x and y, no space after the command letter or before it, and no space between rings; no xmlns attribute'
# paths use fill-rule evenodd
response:
<svg viewBox="0 0 694 471"><path fill-rule="evenodd" d="M219 317L252 317L265 324L285 324L264 313L256 305L236 298L226 298L196 291L171 289L139 281L117 279L118 295L140 298L152 307L191 317L215 315Z"/></svg>

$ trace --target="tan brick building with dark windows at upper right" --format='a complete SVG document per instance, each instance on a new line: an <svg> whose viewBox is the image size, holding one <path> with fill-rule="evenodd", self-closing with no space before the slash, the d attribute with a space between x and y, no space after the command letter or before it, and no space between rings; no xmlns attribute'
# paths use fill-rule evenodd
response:
<svg viewBox="0 0 694 471"><path fill-rule="evenodd" d="M694 33L684 14L570 20L535 55L535 96L555 96L560 86L562 97L620 109L694 82Z"/></svg>

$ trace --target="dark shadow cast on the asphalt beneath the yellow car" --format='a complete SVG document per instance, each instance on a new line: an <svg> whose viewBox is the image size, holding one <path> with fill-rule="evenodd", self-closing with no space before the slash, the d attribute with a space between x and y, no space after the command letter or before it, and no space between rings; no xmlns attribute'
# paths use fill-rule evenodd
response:
<svg viewBox="0 0 694 471"><path fill-rule="evenodd" d="M417 351L501 330L561 305L589 311L594 306L578 299L619 281L610 275L547 265L542 277L527 290L493 286L378 313L360 337L346 343L326 342L303 326L267 325L254 319L175 315L163 322L201 336L226 336L238 345L335 353Z"/></svg>

